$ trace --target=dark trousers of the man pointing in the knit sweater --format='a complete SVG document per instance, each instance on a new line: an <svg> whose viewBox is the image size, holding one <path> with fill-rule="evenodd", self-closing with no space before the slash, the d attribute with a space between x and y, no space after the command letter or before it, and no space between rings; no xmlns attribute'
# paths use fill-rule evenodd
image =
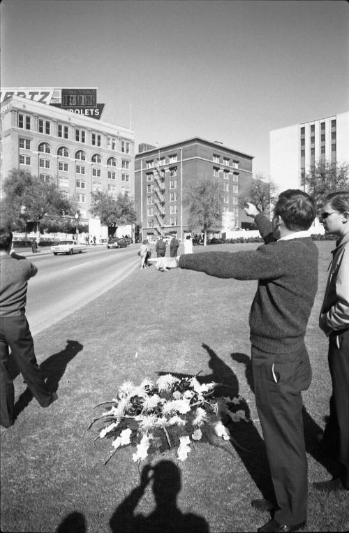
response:
<svg viewBox="0 0 349 533"><path fill-rule="evenodd" d="M302 418L302 390L311 383L308 352L267 353L252 346L255 402L279 509L275 520L306 520L308 467Z"/></svg>

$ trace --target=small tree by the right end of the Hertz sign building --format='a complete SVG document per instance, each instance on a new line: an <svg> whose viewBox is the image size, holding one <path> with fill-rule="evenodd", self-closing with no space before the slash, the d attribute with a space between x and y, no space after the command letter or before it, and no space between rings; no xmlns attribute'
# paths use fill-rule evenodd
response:
<svg viewBox="0 0 349 533"><path fill-rule="evenodd" d="M104 191L96 191L91 193L91 197L90 212L107 226L108 235L114 235L119 226L135 222L135 207L128 194L119 194L117 198L113 198Z"/></svg>

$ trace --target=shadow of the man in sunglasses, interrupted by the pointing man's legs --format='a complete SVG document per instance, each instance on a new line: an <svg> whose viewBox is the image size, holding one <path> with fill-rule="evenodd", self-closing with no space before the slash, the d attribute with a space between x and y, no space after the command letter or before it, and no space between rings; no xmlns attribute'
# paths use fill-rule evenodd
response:
<svg viewBox="0 0 349 533"><path fill-rule="evenodd" d="M231 357L233 360L237 361L237 363L242 363L245 365L246 381L248 386L250 386L252 392L254 393L251 358L246 356L246 353L231 353ZM327 472L329 472L329 474L336 477L338 475L338 463L336 462L336 460L325 455L325 453L321 451L320 446L318 446L318 441L316 437L322 432L322 429L313 420L313 418L305 407L303 407L302 416L306 453L312 455L315 461L319 462L320 465L327 469Z"/></svg>

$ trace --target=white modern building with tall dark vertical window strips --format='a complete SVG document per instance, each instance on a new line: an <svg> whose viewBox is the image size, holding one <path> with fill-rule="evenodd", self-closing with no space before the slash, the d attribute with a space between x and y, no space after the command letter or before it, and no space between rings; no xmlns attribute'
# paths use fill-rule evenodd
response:
<svg viewBox="0 0 349 533"><path fill-rule="evenodd" d="M279 191L301 189L302 175L319 161L349 157L349 112L270 132L270 177Z"/></svg>

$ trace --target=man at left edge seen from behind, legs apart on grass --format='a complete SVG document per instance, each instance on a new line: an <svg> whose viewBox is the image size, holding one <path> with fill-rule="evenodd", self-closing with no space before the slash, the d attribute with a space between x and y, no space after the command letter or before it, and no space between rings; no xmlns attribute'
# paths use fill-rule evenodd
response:
<svg viewBox="0 0 349 533"><path fill-rule="evenodd" d="M12 239L11 231L0 228L0 423L5 428L15 422L15 389L9 371L10 358L15 360L41 407L48 407L57 400L57 394L47 389L43 371L36 362L34 342L24 314L27 282L38 269L28 259L10 254Z"/></svg>

